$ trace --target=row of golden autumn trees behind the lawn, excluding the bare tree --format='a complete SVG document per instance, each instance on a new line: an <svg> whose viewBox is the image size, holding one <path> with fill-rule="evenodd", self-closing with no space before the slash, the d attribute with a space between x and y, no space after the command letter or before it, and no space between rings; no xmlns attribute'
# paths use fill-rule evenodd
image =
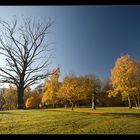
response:
<svg viewBox="0 0 140 140"><path fill-rule="evenodd" d="M117 59L115 66L112 69L111 77L103 82L93 74L87 74L84 76L70 74L65 76L63 81L60 82L60 68L56 68L52 71L52 75L44 79L43 84L37 86L34 89L31 89L30 87L25 89L23 98L24 108L33 109L71 107L73 110L74 107L78 106L87 106L91 107L92 109L96 109L96 107L128 105L130 108L132 108L132 105L138 107L140 100L139 84L137 83L137 86L135 84L133 85L135 86L135 91L132 92L131 90L134 90L133 87L128 87L130 89L125 91L128 89L125 88L126 83L124 85L121 83L121 81L131 83L134 82L133 80L138 82L137 78L139 78L138 69L137 71L133 71L137 75L135 77L136 79L127 73L130 72L132 74L133 72L131 72L131 69L135 70L136 68L134 66L131 67L129 62L126 60L139 66L139 64L134 60L132 61L128 55L121 56ZM125 65L128 65L128 67L126 68ZM124 70L126 70L126 72ZM123 76L118 76L119 74L120 76L123 74L127 80L125 80ZM128 80L129 76L133 77L133 79L131 77L130 81ZM117 81L116 83L115 80L120 81ZM132 86L132 84L130 85ZM122 91L120 91L120 89ZM0 109L17 108L16 87L9 85L8 88L3 88L1 90L0 95ZM129 98L131 101L131 106L129 100L127 101Z"/></svg>

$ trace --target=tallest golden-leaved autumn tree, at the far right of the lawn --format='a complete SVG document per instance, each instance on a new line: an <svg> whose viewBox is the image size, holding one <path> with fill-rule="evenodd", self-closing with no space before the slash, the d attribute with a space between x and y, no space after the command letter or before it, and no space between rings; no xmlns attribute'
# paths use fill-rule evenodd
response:
<svg viewBox="0 0 140 140"><path fill-rule="evenodd" d="M132 108L132 99L137 92L137 72L138 66L129 55L121 56L115 62L111 71L111 82L113 90L109 95L122 94L122 98L128 99L129 108Z"/></svg>

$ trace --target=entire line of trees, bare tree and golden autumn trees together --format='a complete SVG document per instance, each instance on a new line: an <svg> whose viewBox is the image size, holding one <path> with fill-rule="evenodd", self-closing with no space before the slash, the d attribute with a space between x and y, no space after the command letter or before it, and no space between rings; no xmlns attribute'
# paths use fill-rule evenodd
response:
<svg viewBox="0 0 140 140"><path fill-rule="evenodd" d="M9 83L0 94L1 109L76 106L140 106L140 63L129 55L119 57L111 76L67 75L59 82L60 69L48 71L51 49L47 43L52 22L36 18L0 19L0 83ZM44 83L34 89L30 87Z"/></svg>

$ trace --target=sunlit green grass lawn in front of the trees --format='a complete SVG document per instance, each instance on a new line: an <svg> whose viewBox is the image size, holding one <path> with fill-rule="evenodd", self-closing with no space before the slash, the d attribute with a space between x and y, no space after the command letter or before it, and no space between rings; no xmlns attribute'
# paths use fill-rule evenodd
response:
<svg viewBox="0 0 140 140"><path fill-rule="evenodd" d="M0 134L140 134L140 108L0 111Z"/></svg>

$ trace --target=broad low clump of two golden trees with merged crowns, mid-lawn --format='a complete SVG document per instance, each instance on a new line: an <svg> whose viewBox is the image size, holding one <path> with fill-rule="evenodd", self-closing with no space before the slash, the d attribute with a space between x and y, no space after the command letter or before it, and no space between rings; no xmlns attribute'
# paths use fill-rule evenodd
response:
<svg viewBox="0 0 140 140"><path fill-rule="evenodd" d="M94 95L97 93L98 87L99 82L93 75L83 77L69 75L64 78L57 95L63 100L68 100L72 110L76 102L86 99L92 99L92 108L95 109Z"/></svg>

